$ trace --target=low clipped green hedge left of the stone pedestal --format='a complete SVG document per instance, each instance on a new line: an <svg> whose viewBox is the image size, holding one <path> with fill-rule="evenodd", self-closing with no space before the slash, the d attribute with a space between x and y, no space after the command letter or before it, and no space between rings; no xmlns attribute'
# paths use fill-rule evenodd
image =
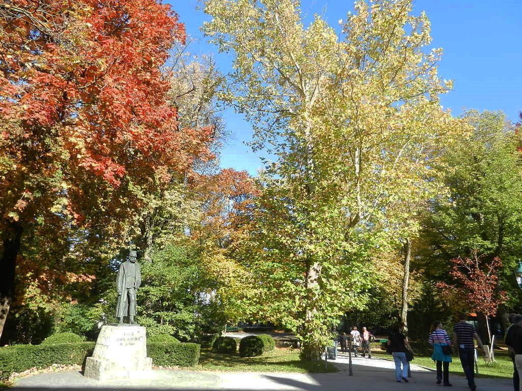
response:
<svg viewBox="0 0 522 391"><path fill-rule="evenodd" d="M0 348L0 378L6 379L13 372L30 368L46 368L52 364L82 364L92 356L93 342L51 345L15 345Z"/></svg>

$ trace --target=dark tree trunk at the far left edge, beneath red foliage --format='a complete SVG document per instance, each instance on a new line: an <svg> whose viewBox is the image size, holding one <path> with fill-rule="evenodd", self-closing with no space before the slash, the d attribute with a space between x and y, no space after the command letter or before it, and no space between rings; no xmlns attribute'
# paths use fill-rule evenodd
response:
<svg viewBox="0 0 522 391"><path fill-rule="evenodd" d="M2 235L3 253L0 260L0 338L11 302L15 295L16 258L20 252L23 227L19 222L10 222Z"/></svg>

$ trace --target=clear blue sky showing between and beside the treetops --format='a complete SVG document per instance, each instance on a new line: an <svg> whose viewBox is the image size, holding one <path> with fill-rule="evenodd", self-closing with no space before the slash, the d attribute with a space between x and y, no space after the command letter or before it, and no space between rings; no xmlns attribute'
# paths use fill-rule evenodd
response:
<svg viewBox="0 0 522 391"><path fill-rule="evenodd" d="M217 53L199 31L209 17L197 9L197 0L167 3L180 15L187 33L199 39L191 51L212 54L220 70L228 72L232 58ZM301 4L304 14L321 14L337 28L353 2L303 0ZM522 111L522 1L416 0L414 14L422 10L432 23L432 46L444 49L439 75L454 81L453 91L442 96L442 104L455 115L463 107L502 110L508 119L517 121ZM224 118L232 136L221 153L221 166L256 175L261 162L244 145L252 138L251 125L232 110L224 112Z"/></svg>

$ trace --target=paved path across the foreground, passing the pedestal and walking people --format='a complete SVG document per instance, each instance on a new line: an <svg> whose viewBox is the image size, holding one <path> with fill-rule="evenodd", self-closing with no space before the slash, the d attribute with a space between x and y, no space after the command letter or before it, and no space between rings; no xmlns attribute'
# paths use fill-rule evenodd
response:
<svg viewBox="0 0 522 391"><path fill-rule="evenodd" d="M103 391L152 390L231 390L231 391L442 391L435 384L433 371L414 366L408 384L397 383L393 362L381 359L353 360L353 376L348 375L347 358L338 357L338 373L282 373L282 372L207 372L157 370L148 379L134 381L98 382L77 371L45 373L20 379L13 391L66 391L95 389ZM450 376L450 389L469 390L466 378ZM507 391L511 380L478 378L477 389Z"/></svg>

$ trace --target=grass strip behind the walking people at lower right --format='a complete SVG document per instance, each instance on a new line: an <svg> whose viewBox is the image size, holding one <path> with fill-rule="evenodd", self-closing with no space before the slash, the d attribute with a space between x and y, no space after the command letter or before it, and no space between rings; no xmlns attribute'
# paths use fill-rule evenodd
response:
<svg viewBox="0 0 522 391"><path fill-rule="evenodd" d="M392 356L387 355L386 353L372 353L372 356L381 357L385 359L392 359ZM452 358L453 362L449 364L449 373L464 376L464 371L462 371L462 366L460 365L460 359L456 356L453 356ZM479 374L476 374L475 376L492 378L512 378L513 363L507 355L507 351L495 350L495 360L496 362L493 365L486 365L482 356L479 356L477 360L479 364ZM412 364L422 365L426 368L435 369L435 361L433 361L431 357L419 357L416 355L412 361Z"/></svg>

